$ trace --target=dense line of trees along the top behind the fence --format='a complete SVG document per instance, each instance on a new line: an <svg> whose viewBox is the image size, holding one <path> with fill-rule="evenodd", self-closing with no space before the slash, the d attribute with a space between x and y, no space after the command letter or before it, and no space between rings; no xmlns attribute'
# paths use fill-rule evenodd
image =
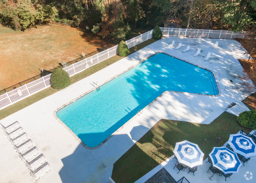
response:
<svg viewBox="0 0 256 183"><path fill-rule="evenodd" d="M250 31L255 0L0 0L0 23L16 30L60 22L117 43L176 20L182 28Z"/></svg>

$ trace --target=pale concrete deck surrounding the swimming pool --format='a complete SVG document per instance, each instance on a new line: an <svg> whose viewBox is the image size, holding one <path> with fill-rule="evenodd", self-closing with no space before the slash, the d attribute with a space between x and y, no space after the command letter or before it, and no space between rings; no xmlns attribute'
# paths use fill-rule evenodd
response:
<svg viewBox="0 0 256 183"><path fill-rule="evenodd" d="M182 42L183 47L180 50L167 47L172 40L175 40L175 46ZM240 102L255 92L255 88L251 81L239 78L239 76L243 76L243 69L237 60L248 58L244 54L245 49L240 49L240 43L235 40L202 38L201 43L195 43L196 40L197 38L184 37L162 38L95 74L4 118L0 123L7 125L19 121L28 137L39 149L39 154L45 155L51 166L51 171L42 176L38 182L109 182L108 177L112 174L113 163L160 119L209 124L226 110L234 109L232 111L236 114L248 110ZM219 47L212 48L215 41L219 41ZM190 51L183 53L182 50L187 47L186 45L191 46ZM194 57L192 55L196 53L197 48L201 48L202 51L198 57ZM205 61L204 57L209 51L212 53L211 58L209 61ZM166 91L157 100L150 103L146 109L143 109L140 116L132 118L115 136L95 150L85 149L70 131L54 118L56 109L93 89L90 83L98 82L101 85L106 80L136 65L140 62L141 56L147 58L156 52L173 55L212 71L219 85L220 94L206 96ZM250 89L248 85L252 88ZM237 104L234 106L236 108L230 109L234 104ZM3 132L0 132L0 141L1 182L32 182L28 169L20 161ZM200 144L198 145L200 147ZM248 163L245 163L245 167L250 167L249 171L256 178L256 170L253 167L255 159L252 157ZM209 167L210 164L208 164L204 163L203 166ZM171 163L172 166L173 163ZM198 182L209 179L209 172L200 176L196 176L196 173L194 178L197 178ZM190 174L187 175L190 176ZM173 176L173 174L171 175ZM178 175L181 175L181 172ZM243 173L237 175L244 179ZM233 175L230 180L241 182L241 179L235 179L235 177ZM255 178L252 180L255 181ZM228 179L227 181L229 181ZM224 182L223 177L217 180L213 182ZM192 179L189 181L193 182Z"/></svg>

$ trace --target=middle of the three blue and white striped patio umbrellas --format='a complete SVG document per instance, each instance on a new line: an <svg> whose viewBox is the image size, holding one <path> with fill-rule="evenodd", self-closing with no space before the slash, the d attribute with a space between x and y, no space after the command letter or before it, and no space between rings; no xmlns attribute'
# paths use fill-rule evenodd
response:
<svg viewBox="0 0 256 183"><path fill-rule="evenodd" d="M224 174L238 173L242 165L237 154L226 147L214 147L209 156L212 165Z"/></svg>

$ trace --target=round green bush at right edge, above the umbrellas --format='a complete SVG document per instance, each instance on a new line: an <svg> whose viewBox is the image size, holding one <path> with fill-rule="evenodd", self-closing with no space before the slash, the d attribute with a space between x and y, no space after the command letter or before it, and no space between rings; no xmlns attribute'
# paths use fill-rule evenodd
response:
<svg viewBox="0 0 256 183"><path fill-rule="evenodd" d="M256 111L244 111L238 116L238 123L243 127L256 129Z"/></svg>

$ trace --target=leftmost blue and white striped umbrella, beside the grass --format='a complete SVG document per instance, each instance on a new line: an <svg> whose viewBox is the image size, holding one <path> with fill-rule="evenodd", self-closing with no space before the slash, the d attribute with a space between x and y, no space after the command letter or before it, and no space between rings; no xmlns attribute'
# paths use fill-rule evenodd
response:
<svg viewBox="0 0 256 183"><path fill-rule="evenodd" d="M195 143L186 140L177 142L173 152L180 163L191 168L203 164L204 153Z"/></svg>

